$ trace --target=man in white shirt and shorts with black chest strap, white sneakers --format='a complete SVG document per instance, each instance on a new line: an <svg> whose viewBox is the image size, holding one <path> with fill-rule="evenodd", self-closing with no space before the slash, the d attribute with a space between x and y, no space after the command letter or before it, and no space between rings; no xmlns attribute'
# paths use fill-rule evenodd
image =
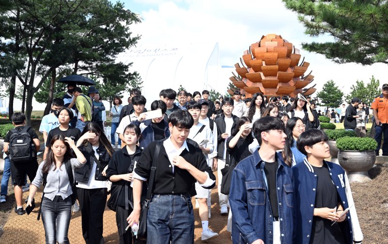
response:
<svg viewBox="0 0 388 244"><path fill-rule="evenodd" d="M205 105L206 106L206 105ZM208 154L213 152L212 135L209 126L198 122L199 115L201 113L202 105L196 102L190 102L187 105L187 111L193 116L194 125L190 129L188 138L198 143L199 148L202 150L209 165ZM204 140L208 140L205 144L201 145ZM198 182L195 183L195 191L197 195L194 197L199 203L199 217L202 223L201 240L209 240L210 238L217 237L218 234L209 229L209 209L207 199L209 198L209 190L203 188Z"/></svg>

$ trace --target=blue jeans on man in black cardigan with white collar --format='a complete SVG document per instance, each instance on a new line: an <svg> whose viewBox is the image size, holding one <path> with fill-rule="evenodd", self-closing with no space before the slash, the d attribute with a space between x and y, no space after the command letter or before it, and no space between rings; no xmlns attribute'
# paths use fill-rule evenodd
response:
<svg viewBox="0 0 388 244"><path fill-rule="evenodd" d="M147 240L153 244L170 244L170 240L174 244L194 244L194 212L189 194L152 196Z"/></svg>

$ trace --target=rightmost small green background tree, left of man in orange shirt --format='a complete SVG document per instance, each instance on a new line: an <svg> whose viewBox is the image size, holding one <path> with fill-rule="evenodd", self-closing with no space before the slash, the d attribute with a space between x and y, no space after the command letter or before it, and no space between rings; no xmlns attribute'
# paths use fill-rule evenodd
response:
<svg viewBox="0 0 388 244"><path fill-rule="evenodd" d="M370 78L370 82L366 85L364 84L364 81L356 81L356 84L353 84L350 87L350 93L345 96L346 102L350 103L352 98L357 97L362 102L366 103L367 105L371 105L373 99L380 95L381 90L379 89L380 81L378 79L375 79L374 76Z"/></svg>

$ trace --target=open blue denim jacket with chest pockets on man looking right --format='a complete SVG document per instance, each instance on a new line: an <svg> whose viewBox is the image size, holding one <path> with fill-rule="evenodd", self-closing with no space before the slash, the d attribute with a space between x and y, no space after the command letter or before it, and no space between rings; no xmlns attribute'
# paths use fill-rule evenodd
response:
<svg viewBox="0 0 388 244"><path fill-rule="evenodd" d="M276 171L277 199L279 207L280 240L292 244L294 228L294 193L291 168L276 153L279 164ZM264 173L265 162L255 151L234 168L229 193L232 211L232 239L234 244L248 243L261 239L273 243L273 221L271 204Z"/></svg>

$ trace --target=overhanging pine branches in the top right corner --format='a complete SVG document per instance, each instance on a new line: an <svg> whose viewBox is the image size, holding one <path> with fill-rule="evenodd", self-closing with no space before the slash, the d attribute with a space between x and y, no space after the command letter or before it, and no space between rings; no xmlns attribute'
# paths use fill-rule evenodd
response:
<svg viewBox="0 0 388 244"><path fill-rule="evenodd" d="M338 63L388 63L388 2L380 0L283 0L299 15L312 37L331 36L324 43L303 43L304 49ZM327 38L325 38L327 39Z"/></svg>

